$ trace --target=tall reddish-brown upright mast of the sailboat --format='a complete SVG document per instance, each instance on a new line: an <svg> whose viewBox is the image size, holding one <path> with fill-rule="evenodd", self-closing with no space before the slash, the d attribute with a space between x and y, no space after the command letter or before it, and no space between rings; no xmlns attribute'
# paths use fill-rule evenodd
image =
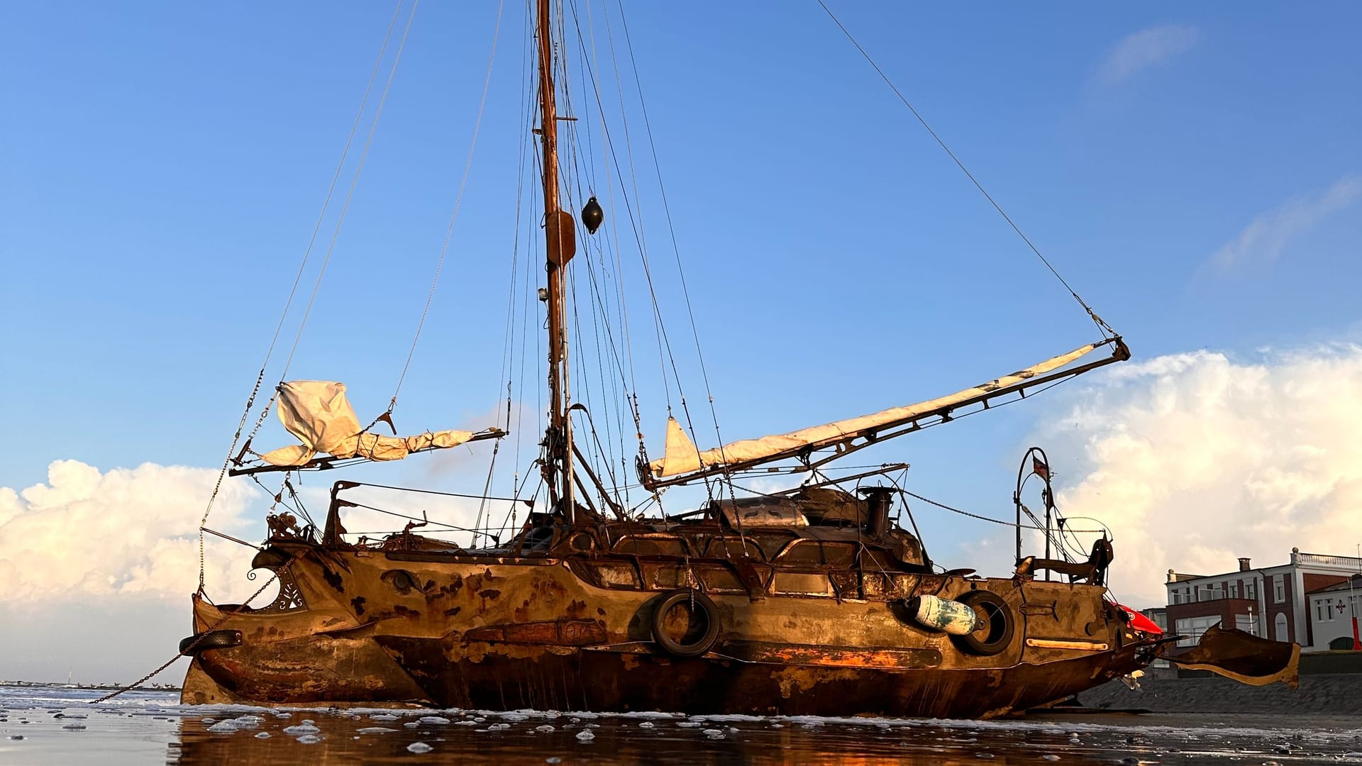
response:
<svg viewBox="0 0 1362 766"><path fill-rule="evenodd" d="M572 420L568 414L568 337L563 271L576 252L572 214L558 207L558 114L553 94L553 35L550 3L538 0L539 139L543 146L543 240L549 275L549 429L545 433L545 482L557 495L568 523L576 517L572 482ZM554 497L550 495L550 502Z"/></svg>

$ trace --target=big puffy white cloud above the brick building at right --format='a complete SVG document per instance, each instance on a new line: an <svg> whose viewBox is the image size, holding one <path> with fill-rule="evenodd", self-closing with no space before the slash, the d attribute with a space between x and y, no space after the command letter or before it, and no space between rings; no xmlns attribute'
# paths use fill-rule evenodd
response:
<svg viewBox="0 0 1362 766"><path fill-rule="evenodd" d="M1071 397L1038 439L1061 511L1111 526L1113 589L1132 605L1163 604L1169 568L1362 541L1362 346L1162 356Z"/></svg>

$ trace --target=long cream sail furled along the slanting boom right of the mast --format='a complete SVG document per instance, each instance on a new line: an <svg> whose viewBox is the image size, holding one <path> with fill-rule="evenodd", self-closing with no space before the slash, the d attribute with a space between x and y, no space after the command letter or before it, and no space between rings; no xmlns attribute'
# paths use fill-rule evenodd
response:
<svg viewBox="0 0 1362 766"><path fill-rule="evenodd" d="M997 380L990 380L972 388L956 391L955 394L948 394L936 399L928 399L925 402L902 408L891 408L873 414L839 420L825 425L814 425L812 428L804 428L790 433L733 442L714 450L696 450L695 444L686 438L676 418L669 417L666 451L663 453L661 461L652 461L648 468L652 470L655 477L661 478L700 470L701 468L756 463L775 455L790 453L791 450L827 447L846 442L858 433L902 425L915 418L949 409L953 405L970 401L982 394L989 394L1015 383L1022 383L1023 380L1035 378L1036 375L1045 375L1046 372L1065 367L1088 352L1105 345L1107 345L1107 341L1088 343L1073 349L1066 354L1060 354L1054 358L1045 360L1041 364L1013 372L1012 375L1005 375Z"/></svg>

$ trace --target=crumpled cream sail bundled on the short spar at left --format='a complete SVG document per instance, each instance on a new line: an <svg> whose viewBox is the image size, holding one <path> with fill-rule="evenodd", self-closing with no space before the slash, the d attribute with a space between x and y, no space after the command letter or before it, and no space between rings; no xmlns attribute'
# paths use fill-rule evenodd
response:
<svg viewBox="0 0 1362 766"><path fill-rule="evenodd" d="M473 438L471 431L428 431L406 438L361 432L364 427L346 398L345 383L331 380L279 384L275 410L279 423L302 442L260 455L264 462L276 466L306 465L317 453L336 458L400 461L417 450L458 447Z"/></svg>

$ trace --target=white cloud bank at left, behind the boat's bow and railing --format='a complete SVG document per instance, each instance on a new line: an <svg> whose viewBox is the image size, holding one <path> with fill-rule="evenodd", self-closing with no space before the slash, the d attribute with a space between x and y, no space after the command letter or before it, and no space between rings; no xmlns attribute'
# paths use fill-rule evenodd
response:
<svg viewBox="0 0 1362 766"><path fill-rule="evenodd" d="M99 469L56 461L48 481L0 487L0 679L129 681L176 653L191 631L189 596L199 585L197 526L218 470L144 463ZM324 508L327 489L300 488L311 508ZM365 488L357 502L471 526L478 500ZM264 493L236 478L222 484L208 526L249 542L264 536ZM508 503L489 503L497 526ZM518 507L518 522L526 517ZM317 519L320 522L320 518ZM406 519L350 508L349 529L391 532ZM419 533L458 540L467 533L424 527ZM208 596L240 601L266 581L248 581L255 551L207 537ZM255 605L275 594L267 587ZM97 652L90 635L98 631ZM178 681L176 667L157 679Z"/></svg>

